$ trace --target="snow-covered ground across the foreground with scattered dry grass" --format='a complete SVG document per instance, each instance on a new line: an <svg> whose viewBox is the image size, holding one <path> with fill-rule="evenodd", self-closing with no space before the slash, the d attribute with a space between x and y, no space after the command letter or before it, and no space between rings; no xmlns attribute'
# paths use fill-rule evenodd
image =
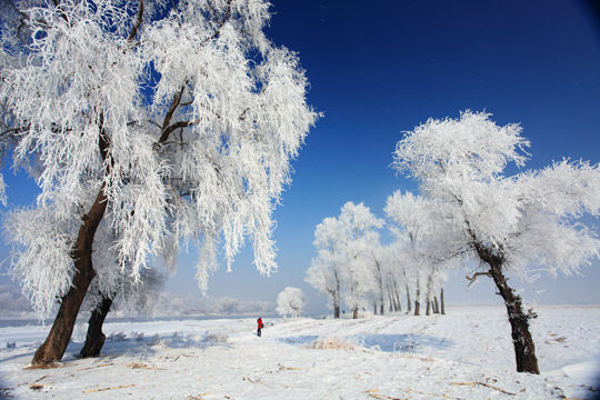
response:
<svg viewBox="0 0 600 400"><path fill-rule="evenodd" d="M101 357L76 357L84 334L78 327L63 362L52 369L27 369L48 327L8 327L0 329L0 398L597 397L600 307L537 311L540 376L514 372L500 307L448 307L447 316L432 317L266 319L261 338L253 318L108 322Z"/></svg>

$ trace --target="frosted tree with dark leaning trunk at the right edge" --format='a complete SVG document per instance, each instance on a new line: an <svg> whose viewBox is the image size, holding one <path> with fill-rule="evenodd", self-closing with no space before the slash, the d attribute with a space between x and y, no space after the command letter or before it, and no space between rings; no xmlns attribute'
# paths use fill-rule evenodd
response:
<svg viewBox="0 0 600 400"><path fill-rule="evenodd" d="M394 167L418 180L443 217L437 230L446 236L439 242L446 256L479 261L472 279L493 280L507 307L517 371L539 373L533 314L507 274L527 278L532 268L570 274L599 256L600 240L581 217L600 214L600 167L563 160L506 176L509 162L523 167L529 156L521 130L498 126L486 112L429 119L398 142Z"/></svg>

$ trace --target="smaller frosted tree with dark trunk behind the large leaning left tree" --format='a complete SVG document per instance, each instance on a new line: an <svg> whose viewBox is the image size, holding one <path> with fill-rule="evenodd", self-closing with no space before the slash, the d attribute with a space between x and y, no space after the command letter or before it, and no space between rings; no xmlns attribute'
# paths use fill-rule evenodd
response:
<svg viewBox="0 0 600 400"><path fill-rule="evenodd" d="M57 303L44 296L59 290L61 281L57 270L72 266L70 248L77 238L78 221L73 213L69 222L57 218L54 207L17 209L4 216L4 237L12 244L12 273L21 281L32 308L39 317L56 311ZM81 306L81 311L90 311L86 343L81 357L96 357L100 353L106 336L102 323L113 301L128 314L148 311L162 288L164 277L153 268L140 271L140 278L133 279L120 273L117 251L111 248L114 233L108 223L101 223L94 237L92 262L97 271ZM50 262L53 269L40 269L32 273L36 260ZM31 281L28 281L30 279ZM37 288L44 288L39 290ZM51 290L53 288L53 290Z"/></svg>

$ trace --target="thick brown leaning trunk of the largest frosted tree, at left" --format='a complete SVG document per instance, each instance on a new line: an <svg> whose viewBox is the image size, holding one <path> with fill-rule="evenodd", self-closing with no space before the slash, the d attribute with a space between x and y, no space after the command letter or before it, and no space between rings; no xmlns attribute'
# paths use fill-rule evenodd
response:
<svg viewBox="0 0 600 400"><path fill-rule="evenodd" d="M73 333L79 308L88 291L88 287L93 277L96 277L91 260L92 243L96 230L104 216L106 209L107 197L104 194L104 184L102 184L90 212L83 217L83 222L81 223L81 228L79 228L71 254L76 270L73 282L67 294L61 299L57 318L46 341L33 356L33 360L31 361L33 366L46 366L59 361L67 350L67 346Z"/></svg>

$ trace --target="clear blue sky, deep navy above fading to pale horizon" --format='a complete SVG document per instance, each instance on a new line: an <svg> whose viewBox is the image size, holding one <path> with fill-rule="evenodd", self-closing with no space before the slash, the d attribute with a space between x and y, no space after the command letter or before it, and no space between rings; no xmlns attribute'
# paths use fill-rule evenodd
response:
<svg viewBox="0 0 600 400"><path fill-rule="evenodd" d="M472 109L492 112L500 124L520 122L532 142L528 168L563 157L600 161L600 17L592 1L272 3L268 34L299 53L309 102L324 118L293 162L292 186L276 212L280 271L256 272L248 243L233 273L223 266L211 279L211 297L274 301L293 286L309 294L311 313L324 311L324 298L303 282L316 224L347 201L363 201L383 217L388 196L413 189L389 168L391 153L402 131L429 117ZM200 296L191 266L193 256L182 256L169 291ZM536 287L546 293L523 297L600 303L600 263L583 273L544 279ZM451 274L447 301L499 302L488 282L464 292L463 277Z"/></svg>

